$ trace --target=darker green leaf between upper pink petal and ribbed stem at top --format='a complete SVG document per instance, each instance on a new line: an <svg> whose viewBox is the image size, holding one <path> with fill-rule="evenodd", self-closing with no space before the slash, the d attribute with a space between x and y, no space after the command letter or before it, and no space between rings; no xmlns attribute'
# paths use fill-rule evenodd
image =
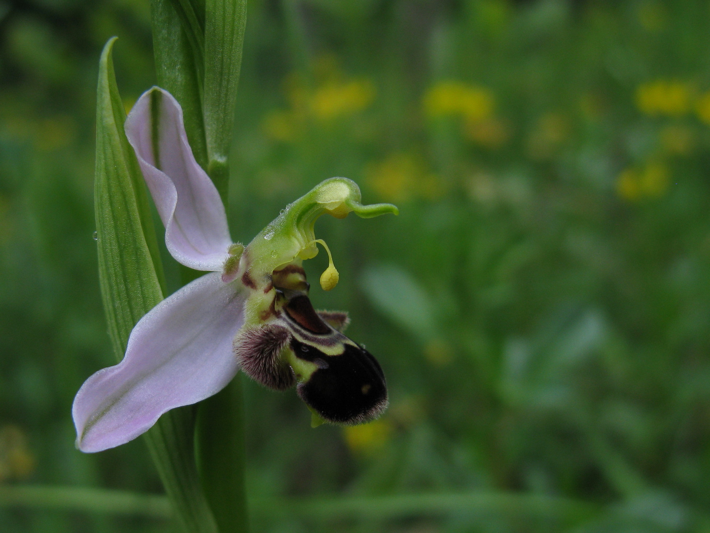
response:
<svg viewBox="0 0 710 533"><path fill-rule="evenodd" d="M207 143L202 121L203 55L195 55L172 0L151 0L153 54L158 85L180 102L192 154L207 168Z"/></svg>

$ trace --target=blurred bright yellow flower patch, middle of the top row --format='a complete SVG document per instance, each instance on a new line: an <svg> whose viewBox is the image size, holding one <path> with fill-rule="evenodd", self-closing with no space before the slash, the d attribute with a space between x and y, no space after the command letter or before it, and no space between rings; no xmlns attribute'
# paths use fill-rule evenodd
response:
<svg viewBox="0 0 710 533"><path fill-rule="evenodd" d="M476 122L493 115L493 93L479 85L455 80L437 82L424 96L424 109L430 117L461 116Z"/></svg>

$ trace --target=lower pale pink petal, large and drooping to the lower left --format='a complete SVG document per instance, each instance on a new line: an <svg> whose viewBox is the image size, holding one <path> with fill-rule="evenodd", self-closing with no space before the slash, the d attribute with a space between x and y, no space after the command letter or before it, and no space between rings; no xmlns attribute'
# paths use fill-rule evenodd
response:
<svg viewBox="0 0 710 533"><path fill-rule="evenodd" d="M212 272L158 303L133 328L119 365L89 377L72 416L77 448L131 441L175 407L216 394L239 367L232 341L244 323L239 285Z"/></svg>

